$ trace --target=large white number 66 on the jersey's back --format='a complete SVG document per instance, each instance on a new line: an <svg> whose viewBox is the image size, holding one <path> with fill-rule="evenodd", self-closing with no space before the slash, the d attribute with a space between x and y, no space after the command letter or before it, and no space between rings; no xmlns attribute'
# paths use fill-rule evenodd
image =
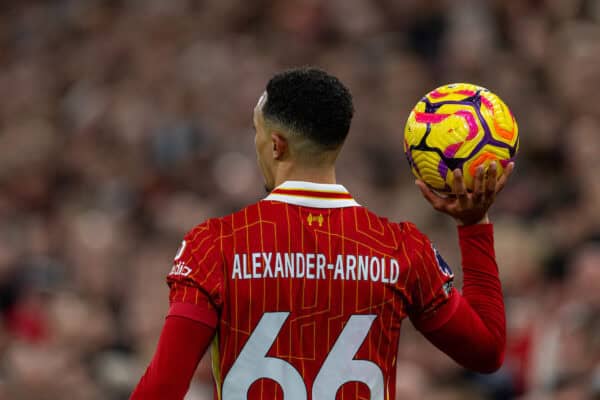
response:
<svg viewBox="0 0 600 400"><path fill-rule="evenodd" d="M268 357L289 312L263 314L223 382L222 399L246 398L250 386L259 379L272 379L283 390L285 400L306 400L307 389L300 373L287 361ZM347 382L369 387L372 400L383 400L383 373L372 361L355 360L376 315L352 315L317 374L313 400L335 400L338 389Z"/></svg>

